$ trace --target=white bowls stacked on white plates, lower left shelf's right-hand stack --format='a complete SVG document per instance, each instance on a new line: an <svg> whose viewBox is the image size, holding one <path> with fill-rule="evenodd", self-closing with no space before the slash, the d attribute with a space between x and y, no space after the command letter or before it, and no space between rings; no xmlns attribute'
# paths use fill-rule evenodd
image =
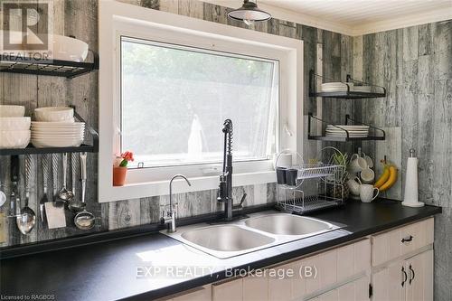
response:
<svg viewBox="0 0 452 301"><path fill-rule="evenodd" d="M47 107L34 110L32 143L34 147L80 146L85 123L74 121L73 108Z"/></svg>

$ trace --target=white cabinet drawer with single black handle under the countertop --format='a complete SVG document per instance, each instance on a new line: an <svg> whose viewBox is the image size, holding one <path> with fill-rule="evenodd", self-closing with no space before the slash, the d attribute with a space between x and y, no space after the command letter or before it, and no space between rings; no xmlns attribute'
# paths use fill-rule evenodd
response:
<svg viewBox="0 0 452 301"><path fill-rule="evenodd" d="M372 236L372 266L433 243L433 218Z"/></svg>

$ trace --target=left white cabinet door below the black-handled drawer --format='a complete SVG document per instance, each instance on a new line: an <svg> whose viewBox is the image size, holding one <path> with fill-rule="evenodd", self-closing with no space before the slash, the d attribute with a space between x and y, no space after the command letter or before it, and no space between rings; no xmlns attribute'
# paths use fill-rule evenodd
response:
<svg viewBox="0 0 452 301"><path fill-rule="evenodd" d="M408 272L404 261L396 261L372 274L373 301L404 301Z"/></svg>

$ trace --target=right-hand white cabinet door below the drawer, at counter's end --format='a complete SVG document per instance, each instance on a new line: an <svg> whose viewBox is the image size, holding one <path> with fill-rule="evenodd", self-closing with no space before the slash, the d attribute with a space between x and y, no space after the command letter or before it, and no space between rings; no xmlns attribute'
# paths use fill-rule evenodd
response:
<svg viewBox="0 0 452 301"><path fill-rule="evenodd" d="M407 259L405 268L408 270L407 300L433 300L433 250Z"/></svg>

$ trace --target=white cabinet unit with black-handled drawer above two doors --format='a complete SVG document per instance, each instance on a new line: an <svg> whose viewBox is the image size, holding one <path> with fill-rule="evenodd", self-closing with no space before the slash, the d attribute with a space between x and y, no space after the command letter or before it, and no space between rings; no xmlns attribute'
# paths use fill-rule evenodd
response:
<svg viewBox="0 0 452 301"><path fill-rule="evenodd" d="M433 300L433 221L372 236L372 301Z"/></svg>

